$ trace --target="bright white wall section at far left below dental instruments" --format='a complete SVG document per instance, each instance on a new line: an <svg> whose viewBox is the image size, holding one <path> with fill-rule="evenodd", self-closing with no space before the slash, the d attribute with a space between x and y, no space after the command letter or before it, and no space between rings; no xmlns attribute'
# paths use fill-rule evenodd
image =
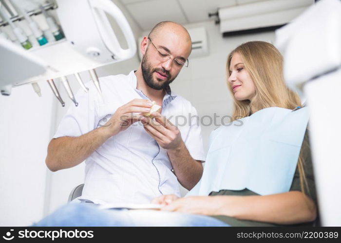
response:
<svg viewBox="0 0 341 243"><path fill-rule="evenodd" d="M31 85L0 95L0 226L27 226L43 216L55 100L47 82L39 85L40 98Z"/></svg>

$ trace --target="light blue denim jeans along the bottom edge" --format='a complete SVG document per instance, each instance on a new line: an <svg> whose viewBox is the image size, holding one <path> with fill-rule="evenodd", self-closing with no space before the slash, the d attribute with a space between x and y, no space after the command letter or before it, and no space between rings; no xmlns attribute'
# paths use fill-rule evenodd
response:
<svg viewBox="0 0 341 243"><path fill-rule="evenodd" d="M33 226L228 226L215 218L157 210L99 209L90 203L71 203Z"/></svg>

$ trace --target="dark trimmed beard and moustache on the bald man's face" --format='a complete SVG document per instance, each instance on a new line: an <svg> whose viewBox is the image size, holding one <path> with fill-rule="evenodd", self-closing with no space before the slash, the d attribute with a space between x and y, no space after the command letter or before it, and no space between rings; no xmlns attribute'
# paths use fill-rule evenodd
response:
<svg viewBox="0 0 341 243"><path fill-rule="evenodd" d="M147 53L146 53L147 54ZM171 77L170 72L168 70L165 70L164 68L161 69L152 69L152 66L148 63L148 59L146 54L142 58L142 63L141 63L141 69L142 69L142 76L147 85L153 89L156 90L161 90L164 89L165 87L169 86L171 82L176 78ZM164 73L167 75L166 80L160 80L156 78L157 80L153 80L153 73L155 71L159 71L161 73Z"/></svg>

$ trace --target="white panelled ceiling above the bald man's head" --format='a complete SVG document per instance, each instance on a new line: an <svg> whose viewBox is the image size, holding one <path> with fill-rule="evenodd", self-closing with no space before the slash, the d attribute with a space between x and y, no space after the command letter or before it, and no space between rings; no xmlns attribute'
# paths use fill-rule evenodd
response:
<svg viewBox="0 0 341 243"><path fill-rule="evenodd" d="M143 31L158 22L171 20L188 24L209 20L208 13L262 0L120 0Z"/></svg>

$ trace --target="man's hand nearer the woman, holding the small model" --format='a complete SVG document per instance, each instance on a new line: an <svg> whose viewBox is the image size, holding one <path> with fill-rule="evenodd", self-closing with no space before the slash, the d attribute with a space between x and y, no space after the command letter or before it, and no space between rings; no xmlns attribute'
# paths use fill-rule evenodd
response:
<svg viewBox="0 0 341 243"><path fill-rule="evenodd" d="M158 112L143 122L146 132L164 149L178 149L183 145L180 130ZM142 120L144 121L144 120Z"/></svg>

